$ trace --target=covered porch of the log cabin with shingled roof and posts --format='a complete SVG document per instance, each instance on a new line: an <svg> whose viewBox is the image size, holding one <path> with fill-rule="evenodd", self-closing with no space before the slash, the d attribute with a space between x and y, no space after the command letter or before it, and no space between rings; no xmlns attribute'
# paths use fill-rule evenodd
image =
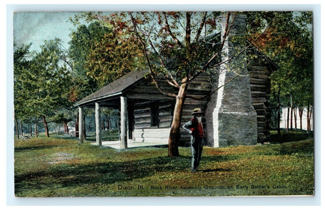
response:
<svg viewBox="0 0 325 210"><path fill-rule="evenodd" d="M79 108L79 141L85 140L84 108L95 108L96 143L115 149L168 145L174 98L166 97L134 70L74 106ZM119 140L102 141L101 108L118 110Z"/></svg>

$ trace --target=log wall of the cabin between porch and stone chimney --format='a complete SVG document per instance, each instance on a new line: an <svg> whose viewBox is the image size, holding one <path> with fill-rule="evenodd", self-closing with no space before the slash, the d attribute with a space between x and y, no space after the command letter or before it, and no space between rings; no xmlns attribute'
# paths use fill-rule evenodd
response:
<svg viewBox="0 0 325 210"><path fill-rule="evenodd" d="M158 80L158 82L165 91L177 94L177 89L173 88L165 80L161 79ZM201 97L209 94L210 91L211 84L209 76L202 75L190 83L187 94L190 96ZM166 141L166 143L168 143L175 99L163 96L162 93L149 82L149 80L140 82L135 87L128 90L126 95L128 98L148 100L146 102L134 104L135 140L140 142ZM201 108L204 112L208 100L209 97L199 101L187 98L183 107L181 125L185 124L193 117L191 114L193 109ZM152 103L158 104L159 124L157 126L150 125L150 106ZM205 121L203 121L203 126L205 126ZM190 142L190 135L182 128L180 128L180 133L181 142L179 145L188 145Z"/></svg>

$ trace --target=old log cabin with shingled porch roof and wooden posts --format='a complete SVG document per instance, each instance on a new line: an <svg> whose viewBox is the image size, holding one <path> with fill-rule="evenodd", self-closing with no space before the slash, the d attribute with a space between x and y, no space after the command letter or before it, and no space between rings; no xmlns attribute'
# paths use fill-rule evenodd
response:
<svg viewBox="0 0 325 210"><path fill-rule="evenodd" d="M246 97L246 100L252 107L253 120L245 123L245 127L250 126L253 128L250 134L251 140L247 141L247 134L240 135L241 130L234 131L235 127L240 124L239 119L232 119L229 122L231 125L224 126L222 129L225 133L230 133L227 140L218 144L215 144L213 139L213 132L215 125L213 124L213 109L215 104L212 98L217 98L214 95L220 95L220 91L210 97L193 100L187 98L184 103L182 112L182 123L185 124L192 118L191 112L194 108L201 108L205 113L203 115L203 126L205 128L206 140L205 144L211 147L222 147L227 145L239 145L239 144L256 144L257 142L263 142L270 130L270 110L269 110L269 93L270 93L270 79L269 76L272 71L277 67L273 62L268 60L261 52L255 52L258 54L258 59L255 62L250 62L247 66L248 76L246 77L246 85L249 89L245 89L247 94L243 94L240 91L235 91L237 94L229 94L233 90L230 90L230 85L225 85L225 95L231 95L232 97L223 97L224 100L240 101L241 104L235 105L235 109L243 106L243 100L239 97ZM228 72L227 72L228 73ZM101 126L100 126L100 108L111 108L119 110L120 115L120 137L121 148L127 148L127 140L132 139L137 142L166 142L168 143L170 125L173 118L173 111L175 105L175 98L164 96L160 91L152 84L151 78L148 77L148 70L135 69L125 76L113 81L109 85L99 89L98 91L90 94L86 98L83 98L74 106L79 107L79 125L83 125L83 108L94 108L96 112L96 140L97 144L101 145ZM231 81L234 85L243 83L243 79L239 77L239 80ZM211 93L213 90L213 76L210 74L201 74L195 80L193 80L188 86L188 95L191 96L204 96ZM176 92L177 90L170 86L166 80L158 79L161 87L169 92ZM229 83L230 84L230 83ZM226 88L229 86L229 88ZM242 87L239 87L242 89ZM234 89L234 88L233 88ZM248 98L248 99L247 99ZM246 103L245 102L245 103ZM226 101L225 101L226 103ZM222 104L222 103L221 103ZM227 105L225 105L227 106ZM237 108L236 108L237 107ZM236 112L236 110L235 110ZM219 114L220 115L220 114ZM240 115L240 112L237 113ZM219 123L221 120L219 119ZM225 123L223 123L225 124ZM256 126L251 126L255 124ZM84 126L80 126L79 132ZM222 127L221 125L218 128ZM180 130L181 141L179 146L188 146L190 134L185 130ZM234 141L235 136L243 136L239 141ZM80 135L79 138L83 138ZM217 137L220 138L220 137ZM82 139L83 140L83 139Z"/></svg>

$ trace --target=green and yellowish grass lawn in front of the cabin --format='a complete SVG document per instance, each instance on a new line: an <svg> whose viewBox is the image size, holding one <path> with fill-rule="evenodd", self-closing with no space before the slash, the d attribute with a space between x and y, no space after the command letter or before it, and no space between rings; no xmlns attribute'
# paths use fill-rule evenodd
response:
<svg viewBox="0 0 325 210"><path fill-rule="evenodd" d="M181 156L172 158L167 148L159 147L115 150L59 136L16 139L15 195L312 195L312 135L294 131L278 137L278 142L293 140L287 143L277 143L276 136L271 135L269 145L204 147L199 173L194 174L186 147L179 147Z"/></svg>

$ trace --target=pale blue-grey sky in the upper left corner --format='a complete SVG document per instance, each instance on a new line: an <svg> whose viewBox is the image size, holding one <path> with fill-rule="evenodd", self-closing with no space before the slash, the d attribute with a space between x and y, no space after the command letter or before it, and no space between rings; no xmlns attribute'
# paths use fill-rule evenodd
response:
<svg viewBox="0 0 325 210"><path fill-rule="evenodd" d="M39 50L45 40L59 38L68 48L69 34L77 26L68 20L77 12L17 12L14 13L14 39L17 47L32 43L31 50Z"/></svg>

